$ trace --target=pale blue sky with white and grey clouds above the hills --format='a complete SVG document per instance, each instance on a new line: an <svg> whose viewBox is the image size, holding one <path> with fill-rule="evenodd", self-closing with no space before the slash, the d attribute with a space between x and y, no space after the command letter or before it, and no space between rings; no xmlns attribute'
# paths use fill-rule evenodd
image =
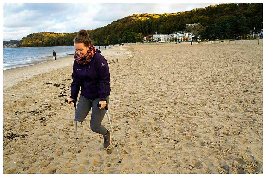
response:
<svg viewBox="0 0 266 177"><path fill-rule="evenodd" d="M28 34L37 32L72 33L81 29L91 30L110 24L112 21L132 14L173 13L194 8L203 8L219 3L155 3L146 4L135 0L135 4L122 4L119 1L107 4L105 0L95 1L101 4L69 3L3 3L3 41L21 40ZM16 2L16 1L14 1ZM45 1L49 2L49 1ZM52 1L56 2L56 1ZM67 2L67 1L64 1ZM69 1L75 2L75 1ZM80 1L79 1L80 2ZM85 1L84 1L85 2ZM89 1L90 2L90 1ZM93 1L92 1L93 2ZM173 2L173 1L171 1Z"/></svg>

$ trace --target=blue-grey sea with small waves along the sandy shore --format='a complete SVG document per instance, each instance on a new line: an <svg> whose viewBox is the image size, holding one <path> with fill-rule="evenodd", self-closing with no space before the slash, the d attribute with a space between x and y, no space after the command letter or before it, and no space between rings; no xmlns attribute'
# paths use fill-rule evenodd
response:
<svg viewBox="0 0 266 177"><path fill-rule="evenodd" d="M95 45L96 49L105 50L105 46ZM106 46L106 49L113 46ZM73 46L51 46L51 47L10 47L3 48L3 70L33 65L34 61L39 63L46 62L47 59L53 59L53 50L56 57L74 55ZM74 57L74 56L73 56Z"/></svg>

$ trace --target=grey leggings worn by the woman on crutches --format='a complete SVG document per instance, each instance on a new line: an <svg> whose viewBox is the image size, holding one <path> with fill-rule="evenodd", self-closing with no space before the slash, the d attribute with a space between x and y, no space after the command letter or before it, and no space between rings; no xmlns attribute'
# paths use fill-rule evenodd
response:
<svg viewBox="0 0 266 177"><path fill-rule="evenodd" d="M92 116L90 120L90 128L93 132L106 135L107 130L104 125L101 125L104 115L106 113L105 108L100 109L97 107L100 98L96 98L95 100L88 99L82 95L80 95L77 109L75 113L75 121L83 122L86 116L89 114L89 111L92 108ZM106 97L106 103L108 106L109 103L109 96Z"/></svg>

